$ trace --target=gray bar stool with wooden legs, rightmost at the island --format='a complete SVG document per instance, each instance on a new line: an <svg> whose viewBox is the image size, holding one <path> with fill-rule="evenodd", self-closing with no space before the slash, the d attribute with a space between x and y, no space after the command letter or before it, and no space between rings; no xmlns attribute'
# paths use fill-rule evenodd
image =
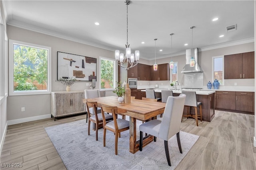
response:
<svg viewBox="0 0 256 170"><path fill-rule="evenodd" d="M184 91L184 90L182 90L182 94L186 94L185 106L188 106L188 114L183 115L183 117L193 117L194 119L196 119L196 126L198 126L198 116L199 115L197 114L197 107L199 106L200 121L202 121L202 103L197 102L195 91ZM195 115L191 115L190 107L194 107Z"/></svg>

